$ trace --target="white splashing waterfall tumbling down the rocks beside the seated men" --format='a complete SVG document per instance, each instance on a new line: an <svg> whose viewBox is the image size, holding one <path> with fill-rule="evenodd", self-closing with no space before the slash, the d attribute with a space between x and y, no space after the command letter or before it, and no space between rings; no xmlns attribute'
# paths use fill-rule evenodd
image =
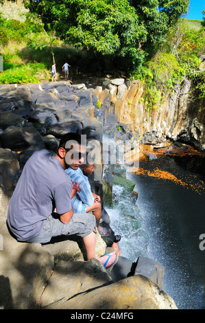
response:
<svg viewBox="0 0 205 323"><path fill-rule="evenodd" d="M103 143L110 142L108 136L104 136ZM116 159L118 162L118 160ZM117 168L115 164L113 170ZM128 166L120 165L123 169L123 179L128 179ZM113 184L112 206L105 206L110 216L112 227L116 234L121 235L119 248L121 256L129 258L133 262L138 256L147 256L149 236L143 229L141 211L136 205L137 193L126 186Z"/></svg>

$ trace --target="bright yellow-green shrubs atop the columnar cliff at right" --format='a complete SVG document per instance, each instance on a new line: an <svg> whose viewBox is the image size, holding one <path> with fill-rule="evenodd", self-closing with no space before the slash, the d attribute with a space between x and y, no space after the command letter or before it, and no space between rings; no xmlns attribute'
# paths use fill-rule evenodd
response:
<svg viewBox="0 0 205 323"><path fill-rule="evenodd" d="M169 35L161 51L147 61L140 72L132 74L132 79L143 82L143 100L145 108L160 107L168 93L173 93L176 86L184 79L193 82L195 98L205 98L204 71L200 70L204 53L204 30L189 27L185 19L169 29Z"/></svg>

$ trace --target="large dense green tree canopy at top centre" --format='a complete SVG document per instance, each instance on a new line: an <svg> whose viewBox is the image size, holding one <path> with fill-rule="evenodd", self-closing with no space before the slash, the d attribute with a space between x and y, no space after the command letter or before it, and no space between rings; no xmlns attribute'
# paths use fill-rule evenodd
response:
<svg viewBox="0 0 205 323"><path fill-rule="evenodd" d="M65 43L136 69L165 41L189 0L29 0L25 6Z"/></svg>

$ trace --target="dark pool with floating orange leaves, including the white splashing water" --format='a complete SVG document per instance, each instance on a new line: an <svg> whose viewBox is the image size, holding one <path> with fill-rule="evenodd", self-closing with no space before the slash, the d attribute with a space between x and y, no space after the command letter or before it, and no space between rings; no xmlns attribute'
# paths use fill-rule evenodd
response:
<svg viewBox="0 0 205 323"><path fill-rule="evenodd" d="M205 309L203 178L166 155L139 166L138 172L126 172L138 198L114 186L112 208L106 208L114 232L122 236L121 256L156 260L165 267L164 290L178 309Z"/></svg>

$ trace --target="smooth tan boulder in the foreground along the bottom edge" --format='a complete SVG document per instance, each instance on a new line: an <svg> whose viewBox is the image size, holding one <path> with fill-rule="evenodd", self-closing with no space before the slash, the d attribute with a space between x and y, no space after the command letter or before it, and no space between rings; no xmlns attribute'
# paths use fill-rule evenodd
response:
<svg viewBox="0 0 205 323"><path fill-rule="evenodd" d="M62 293L61 293L62 297ZM175 302L145 276L124 278L104 287L53 302L47 309L177 309Z"/></svg>

